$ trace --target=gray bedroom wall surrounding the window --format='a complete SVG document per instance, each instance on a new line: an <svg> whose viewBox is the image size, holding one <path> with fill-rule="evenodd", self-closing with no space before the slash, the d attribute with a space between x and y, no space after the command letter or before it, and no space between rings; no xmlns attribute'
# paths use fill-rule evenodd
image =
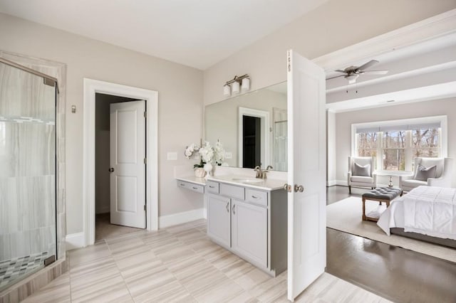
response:
<svg viewBox="0 0 456 303"><path fill-rule="evenodd" d="M456 159L456 98L454 97L336 114L336 179L338 183L346 182L347 179L348 156L351 155L351 124L440 115L447 115L448 156ZM393 181L395 185L398 185L397 178L394 178ZM388 180L385 178L380 178L379 182L388 184ZM453 176L452 187L456 187L456 174Z"/></svg>

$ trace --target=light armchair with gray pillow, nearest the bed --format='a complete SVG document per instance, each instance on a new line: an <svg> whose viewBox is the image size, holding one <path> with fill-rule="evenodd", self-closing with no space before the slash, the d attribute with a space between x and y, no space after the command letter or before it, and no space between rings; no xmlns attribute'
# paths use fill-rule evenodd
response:
<svg viewBox="0 0 456 303"><path fill-rule="evenodd" d="M435 169L432 167L435 166ZM420 185L451 187L453 159L415 158L415 171L408 176L399 177L399 187L411 191Z"/></svg>

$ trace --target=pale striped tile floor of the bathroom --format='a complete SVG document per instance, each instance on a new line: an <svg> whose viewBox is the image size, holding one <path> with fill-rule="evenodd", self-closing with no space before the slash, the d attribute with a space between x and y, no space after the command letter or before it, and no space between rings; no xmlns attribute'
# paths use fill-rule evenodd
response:
<svg viewBox="0 0 456 303"><path fill-rule="evenodd" d="M272 278L212 243L206 220L140 230L69 252L70 271L25 302L286 302ZM388 302L324 273L301 302Z"/></svg>

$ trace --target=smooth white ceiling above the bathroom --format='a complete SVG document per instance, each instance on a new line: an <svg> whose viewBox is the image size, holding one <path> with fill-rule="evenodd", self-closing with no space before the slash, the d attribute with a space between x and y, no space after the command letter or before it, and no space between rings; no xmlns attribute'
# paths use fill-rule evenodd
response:
<svg viewBox="0 0 456 303"><path fill-rule="evenodd" d="M328 0L0 0L0 12L204 70Z"/></svg>

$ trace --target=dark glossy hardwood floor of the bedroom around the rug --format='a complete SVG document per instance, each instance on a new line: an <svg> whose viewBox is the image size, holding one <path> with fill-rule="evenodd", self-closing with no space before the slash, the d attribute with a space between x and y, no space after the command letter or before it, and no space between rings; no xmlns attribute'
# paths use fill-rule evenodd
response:
<svg viewBox="0 0 456 303"><path fill-rule="evenodd" d="M328 204L350 196L343 186L327 192ZM393 302L456 302L456 263L330 228L326 235L331 275Z"/></svg>

